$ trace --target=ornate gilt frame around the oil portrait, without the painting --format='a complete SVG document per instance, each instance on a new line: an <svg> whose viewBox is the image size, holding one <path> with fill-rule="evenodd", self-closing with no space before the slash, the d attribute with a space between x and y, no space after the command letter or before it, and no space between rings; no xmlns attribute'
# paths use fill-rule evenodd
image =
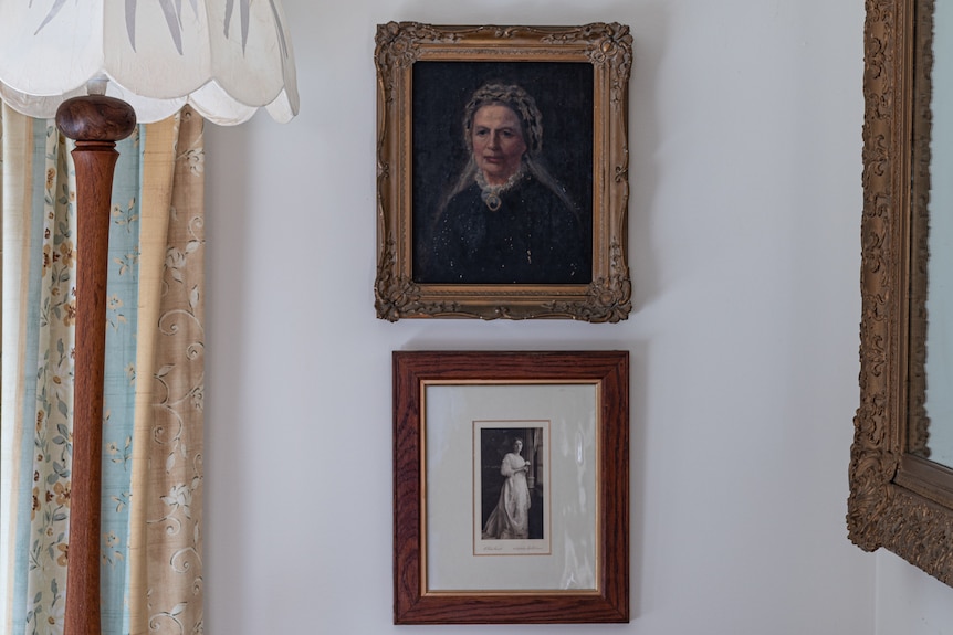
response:
<svg viewBox="0 0 953 635"><path fill-rule="evenodd" d="M412 67L425 61L584 62L594 71L593 277L589 284L421 284L412 275ZM631 311L628 27L439 27L377 29L377 275L381 319L564 318L616 322Z"/></svg>

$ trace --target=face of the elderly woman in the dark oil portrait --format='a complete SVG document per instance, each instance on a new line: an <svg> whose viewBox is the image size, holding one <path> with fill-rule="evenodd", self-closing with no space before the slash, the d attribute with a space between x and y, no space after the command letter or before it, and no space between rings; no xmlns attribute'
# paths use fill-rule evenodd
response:
<svg viewBox="0 0 953 635"><path fill-rule="evenodd" d="M526 142L520 117L509 106L489 104L473 115L473 159L486 182L502 186L520 169Z"/></svg>

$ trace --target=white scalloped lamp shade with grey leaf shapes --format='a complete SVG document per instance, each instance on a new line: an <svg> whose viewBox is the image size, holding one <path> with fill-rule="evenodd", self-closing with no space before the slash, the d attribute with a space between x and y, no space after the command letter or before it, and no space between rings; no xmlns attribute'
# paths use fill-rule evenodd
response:
<svg viewBox="0 0 953 635"><path fill-rule="evenodd" d="M86 84L128 102L140 123L185 104L240 124L260 107L297 114L281 0L0 0L0 97L53 117Z"/></svg>

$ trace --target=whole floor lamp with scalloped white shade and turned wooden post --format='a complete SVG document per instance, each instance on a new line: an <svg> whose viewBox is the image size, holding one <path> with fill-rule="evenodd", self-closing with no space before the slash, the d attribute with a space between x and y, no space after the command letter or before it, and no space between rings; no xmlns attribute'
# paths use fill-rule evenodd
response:
<svg viewBox="0 0 953 635"><path fill-rule="evenodd" d="M0 0L0 97L74 139L76 343L65 635L98 635L106 269L116 141L189 104L297 114L281 0Z"/></svg>

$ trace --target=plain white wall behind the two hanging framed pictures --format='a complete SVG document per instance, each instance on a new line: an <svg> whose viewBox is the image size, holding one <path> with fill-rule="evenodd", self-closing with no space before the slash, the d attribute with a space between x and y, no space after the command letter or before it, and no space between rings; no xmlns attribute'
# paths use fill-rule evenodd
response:
<svg viewBox="0 0 953 635"><path fill-rule="evenodd" d="M207 632L877 632L882 557L845 528L863 3L285 11L300 117L208 129ZM628 321L376 319L373 53L389 20L631 25ZM631 351L631 624L391 625L390 352L428 348Z"/></svg>

